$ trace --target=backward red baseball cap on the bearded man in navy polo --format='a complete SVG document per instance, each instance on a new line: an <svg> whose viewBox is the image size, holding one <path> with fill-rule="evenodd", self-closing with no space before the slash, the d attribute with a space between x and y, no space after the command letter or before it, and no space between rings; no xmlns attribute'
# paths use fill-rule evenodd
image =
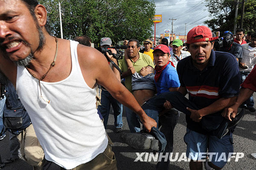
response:
<svg viewBox="0 0 256 170"><path fill-rule="evenodd" d="M203 38L195 40L194 38L199 35L203 36ZM191 44L202 41L211 41L216 40L217 38L218 37L212 37L212 31L207 26L196 26L188 32L186 43Z"/></svg>

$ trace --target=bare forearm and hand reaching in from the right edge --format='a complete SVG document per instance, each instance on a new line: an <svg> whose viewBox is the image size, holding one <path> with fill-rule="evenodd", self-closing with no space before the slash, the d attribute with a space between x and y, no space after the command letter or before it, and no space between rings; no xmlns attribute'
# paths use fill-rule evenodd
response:
<svg viewBox="0 0 256 170"><path fill-rule="evenodd" d="M231 118L236 117L239 106L242 103L244 103L244 101L246 101L248 98L250 98L251 95L253 95L253 90L247 89L247 88L241 88L239 95L236 99L236 103L233 106L224 109L224 111L222 112L222 116L232 121Z"/></svg>

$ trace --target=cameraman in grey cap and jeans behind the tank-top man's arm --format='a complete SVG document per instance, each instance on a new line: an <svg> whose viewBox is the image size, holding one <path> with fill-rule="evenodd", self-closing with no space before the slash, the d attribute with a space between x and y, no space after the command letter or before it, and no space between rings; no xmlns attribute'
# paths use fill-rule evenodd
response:
<svg viewBox="0 0 256 170"><path fill-rule="evenodd" d="M101 48L107 48L109 46L112 46L112 41L109 37L103 37L100 40L100 46ZM113 54L116 54L115 49L108 49L111 51ZM106 52L106 55L108 58L116 63L118 65L116 58L113 57L113 55L109 55L108 52ZM120 72L116 69L116 67L112 66L112 70L114 74L116 75L116 78L120 81ZM114 114L114 119L115 119L115 132L119 133L122 131L122 104L119 103L115 98L112 97L112 95L104 88L102 87L102 95L101 95L101 105L99 105L98 109L99 112L102 114L102 117L104 118L104 127L107 129L107 123L108 123L108 115L109 115L109 110L110 106L112 105L113 107L113 114Z"/></svg>

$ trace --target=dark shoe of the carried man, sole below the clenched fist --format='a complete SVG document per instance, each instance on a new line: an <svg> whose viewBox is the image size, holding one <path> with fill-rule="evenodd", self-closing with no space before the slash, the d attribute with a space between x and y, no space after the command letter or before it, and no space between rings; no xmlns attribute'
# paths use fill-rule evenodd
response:
<svg viewBox="0 0 256 170"><path fill-rule="evenodd" d="M125 144L137 150L159 150L157 139L149 133L121 133L121 139Z"/></svg>

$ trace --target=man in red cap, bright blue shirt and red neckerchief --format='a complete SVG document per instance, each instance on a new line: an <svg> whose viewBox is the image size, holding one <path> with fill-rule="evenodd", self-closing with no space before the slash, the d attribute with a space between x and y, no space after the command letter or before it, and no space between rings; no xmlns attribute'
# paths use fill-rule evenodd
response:
<svg viewBox="0 0 256 170"><path fill-rule="evenodd" d="M157 87L157 95L163 92L178 91L180 81L177 71L170 60L170 49L168 46L160 44L156 46L153 52L155 66L155 85ZM162 125L160 131L166 137L165 153L172 153L173 150L173 130L177 124L179 112L172 108L159 117L159 122ZM166 154L165 154L166 155ZM159 161L157 163L157 170L169 170L170 160Z"/></svg>

